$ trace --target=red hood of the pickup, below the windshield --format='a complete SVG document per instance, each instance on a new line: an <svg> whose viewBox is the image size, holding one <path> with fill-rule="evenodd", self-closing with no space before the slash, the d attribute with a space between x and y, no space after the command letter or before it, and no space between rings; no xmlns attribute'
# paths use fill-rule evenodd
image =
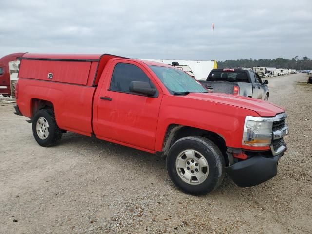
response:
<svg viewBox="0 0 312 234"><path fill-rule="evenodd" d="M276 114L285 112L282 107L267 101L230 94L190 93L184 97L245 108L257 112L261 117L274 117Z"/></svg>

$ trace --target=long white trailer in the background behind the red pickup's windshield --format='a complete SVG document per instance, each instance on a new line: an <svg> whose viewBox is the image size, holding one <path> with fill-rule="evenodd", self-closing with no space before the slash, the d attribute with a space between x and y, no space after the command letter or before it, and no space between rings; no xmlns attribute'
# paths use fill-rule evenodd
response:
<svg viewBox="0 0 312 234"><path fill-rule="evenodd" d="M195 79L206 80L212 69L218 68L216 61L200 61L200 60L169 60L169 59L139 59L152 62L160 62L164 64L172 65L173 62L177 62L179 66L188 65Z"/></svg>

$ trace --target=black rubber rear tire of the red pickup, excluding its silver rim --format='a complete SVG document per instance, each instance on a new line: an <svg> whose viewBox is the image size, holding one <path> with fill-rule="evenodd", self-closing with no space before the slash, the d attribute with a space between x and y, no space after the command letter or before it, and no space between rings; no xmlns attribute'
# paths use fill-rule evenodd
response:
<svg viewBox="0 0 312 234"><path fill-rule="evenodd" d="M36 125L39 118L43 117L49 124L49 133L46 139L41 139L37 133ZM39 110L34 118L33 118L33 135L37 143L44 147L53 146L59 143L60 139L62 138L63 132L59 129L55 117L54 112L51 109L42 109Z"/></svg>

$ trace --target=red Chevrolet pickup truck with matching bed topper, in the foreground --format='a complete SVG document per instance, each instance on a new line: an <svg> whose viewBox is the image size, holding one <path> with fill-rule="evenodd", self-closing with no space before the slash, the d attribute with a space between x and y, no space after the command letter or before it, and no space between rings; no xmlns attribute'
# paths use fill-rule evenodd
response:
<svg viewBox="0 0 312 234"><path fill-rule="evenodd" d="M71 131L166 157L190 194L213 191L225 172L241 187L277 173L288 133L283 108L209 93L170 65L114 55L25 54L15 113L41 146Z"/></svg>

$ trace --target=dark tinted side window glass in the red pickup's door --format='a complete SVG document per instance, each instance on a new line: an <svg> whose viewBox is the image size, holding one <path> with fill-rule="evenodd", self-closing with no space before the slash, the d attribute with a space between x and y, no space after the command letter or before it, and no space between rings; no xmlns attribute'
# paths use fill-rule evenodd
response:
<svg viewBox="0 0 312 234"><path fill-rule="evenodd" d="M155 87L146 74L136 65L128 63L117 63L112 79L110 90L130 93L129 87L131 81L148 82L151 87Z"/></svg>

